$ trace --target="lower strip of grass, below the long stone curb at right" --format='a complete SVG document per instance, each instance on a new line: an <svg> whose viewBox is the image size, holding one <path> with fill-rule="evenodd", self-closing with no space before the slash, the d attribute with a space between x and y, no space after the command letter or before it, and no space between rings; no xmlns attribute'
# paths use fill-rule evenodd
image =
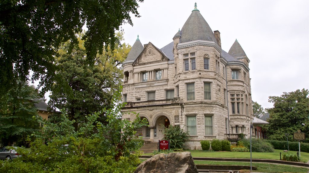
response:
<svg viewBox="0 0 309 173"><path fill-rule="evenodd" d="M247 165L250 166L250 162L221 162L221 161L200 161L194 160L195 164L198 165ZM281 164L270 164L270 163L252 163L252 166L257 167L257 170L254 172L297 172L297 173L307 173L308 168L304 167L294 167L289 165Z"/></svg>

